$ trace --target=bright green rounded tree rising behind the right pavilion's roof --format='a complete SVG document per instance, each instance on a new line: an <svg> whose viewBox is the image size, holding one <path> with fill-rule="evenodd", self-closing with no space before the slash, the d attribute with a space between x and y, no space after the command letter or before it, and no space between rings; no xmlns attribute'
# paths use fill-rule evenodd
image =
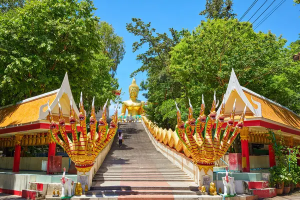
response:
<svg viewBox="0 0 300 200"><path fill-rule="evenodd" d="M221 99L233 67L242 86L299 113L299 67L291 65L286 40L270 31L256 33L250 26L236 19L208 19L173 48L169 68L186 86L181 96L197 109L201 94L211 102L216 90Z"/></svg>

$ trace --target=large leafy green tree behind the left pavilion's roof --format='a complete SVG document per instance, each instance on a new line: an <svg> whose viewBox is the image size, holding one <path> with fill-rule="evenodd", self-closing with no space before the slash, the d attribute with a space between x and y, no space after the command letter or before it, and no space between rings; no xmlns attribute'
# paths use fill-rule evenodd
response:
<svg viewBox="0 0 300 200"><path fill-rule="evenodd" d="M59 88L66 71L77 101L82 90L96 109L115 97L93 10L91 0L30 0L0 15L0 104Z"/></svg>

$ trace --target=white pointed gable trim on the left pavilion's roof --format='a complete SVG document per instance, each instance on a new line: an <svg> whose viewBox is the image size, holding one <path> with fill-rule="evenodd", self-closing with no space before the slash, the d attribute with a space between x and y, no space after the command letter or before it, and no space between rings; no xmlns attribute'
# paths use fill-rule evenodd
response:
<svg viewBox="0 0 300 200"><path fill-rule="evenodd" d="M74 101L74 98L73 98L73 95L72 95L72 92L71 92L70 84L69 84L68 77L67 77L67 72L65 72L65 75L64 75L63 81L61 83L61 86L58 89L58 93L57 93L55 99L53 100L53 102L50 105L50 109L53 110L53 108L55 107L55 105L58 102L58 99L61 98L61 96L63 95L63 93L66 93L69 98L72 97L73 108L74 108L74 111L75 111L76 115L78 116L79 115L79 110L77 108L77 105L76 105L76 103ZM46 104L41 105L39 107L39 117L38 117L39 119L46 119L47 118L48 109L46 111L42 110L43 107L45 107L45 106L46 106Z"/></svg>

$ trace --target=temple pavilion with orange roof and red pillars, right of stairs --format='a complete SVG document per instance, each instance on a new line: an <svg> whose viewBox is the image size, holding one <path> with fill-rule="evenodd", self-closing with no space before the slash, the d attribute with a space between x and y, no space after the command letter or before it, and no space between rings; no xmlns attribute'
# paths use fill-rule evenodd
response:
<svg viewBox="0 0 300 200"><path fill-rule="evenodd" d="M268 163L267 160L262 159L257 161L265 162L265 166L267 167L275 165L275 156L272 150L273 146L269 143L268 139L269 129L272 129L275 134L281 134L285 145L300 145L300 116L287 107L241 86L232 69L228 87L224 94L225 122L229 118L235 98L235 121L238 121L239 115L247 103L244 120L245 128L240 132L241 164L243 172L250 172L249 143L267 146L269 155ZM220 108L217 110L217 115L219 112ZM300 162L298 162L298 164L300 164Z"/></svg>

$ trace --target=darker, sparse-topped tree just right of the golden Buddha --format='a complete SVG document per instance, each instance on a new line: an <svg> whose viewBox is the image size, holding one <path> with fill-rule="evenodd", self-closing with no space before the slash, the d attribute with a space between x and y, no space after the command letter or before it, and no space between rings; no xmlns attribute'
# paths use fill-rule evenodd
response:
<svg viewBox="0 0 300 200"><path fill-rule="evenodd" d="M147 71L147 81L141 82L141 89L147 89L149 105L145 108L151 120L155 120L163 126L167 125L167 118L163 119L159 111L159 105L166 99L175 99L178 90L181 88L180 82L172 79L169 72L169 51L175 46L180 38L188 33L186 30L180 32L169 28L169 34L156 33L155 28L151 28L151 23L144 23L139 18L132 18L131 23L126 24L128 32L139 36L139 41L132 44L132 51L135 52L144 44L148 44L148 49L144 53L136 56L136 60L142 63L141 67L131 73L131 76L140 72ZM155 34L156 33L156 34Z"/></svg>

